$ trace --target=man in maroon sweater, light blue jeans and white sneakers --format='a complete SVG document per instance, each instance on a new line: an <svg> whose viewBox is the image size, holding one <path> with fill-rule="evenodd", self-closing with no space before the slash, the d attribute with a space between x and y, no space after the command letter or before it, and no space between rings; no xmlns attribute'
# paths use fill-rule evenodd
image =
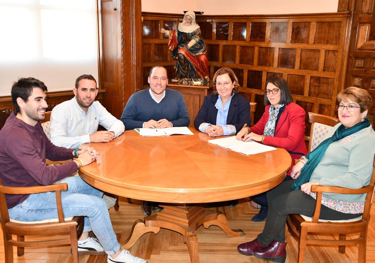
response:
<svg viewBox="0 0 375 263"><path fill-rule="evenodd" d="M68 183L62 192L64 215L86 216L84 233L78 240L78 254L108 254L109 263L145 263L120 249L113 231L103 193L85 183L79 176L69 176L83 165L95 161L93 148L68 149L53 145L43 132L40 120L45 118L47 87L34 78L21 78L12 86L12 113L0 131L0 178L5 186L39 186ZM71 159L71 162L46 166L45 159ZM19 221L39 221L57 215L55 193L7 195L9 217ZM89 237L89 231L98 237ZM99 243L100 242L100 243Z"/></svg>

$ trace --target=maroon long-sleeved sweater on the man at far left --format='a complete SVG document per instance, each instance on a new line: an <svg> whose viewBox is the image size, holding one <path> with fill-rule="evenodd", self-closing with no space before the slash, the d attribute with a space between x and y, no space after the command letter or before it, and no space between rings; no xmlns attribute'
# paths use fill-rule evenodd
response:
<svg viewBox="0 0 375 263"><path fill-rule="evenodd" d="M77 171L75 162L46 166L45 159L71 159L73 149L53 145L40 122L31 126L10 114L0 130L0 178L4 186L49 185ZM28 195L6 195L8 209L22 203Z"/></svg>

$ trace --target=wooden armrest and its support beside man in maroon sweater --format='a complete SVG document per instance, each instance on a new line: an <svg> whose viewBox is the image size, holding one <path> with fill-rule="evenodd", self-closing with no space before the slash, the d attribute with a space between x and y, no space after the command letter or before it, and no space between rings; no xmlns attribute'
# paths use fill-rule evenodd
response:
<svg viewBox="0 0 375 263"><path fill-rule="evenodd" d="M64 219L64 212L63 212L63 205L61 203L61 191L68 190L67 183L58 183L58 184L51 184L47 186L29 186L29 187L13 187L13 186L0 186L1 193L8 193L11 195L21 195L21 194L29 194L29 193L43 193L43 192L51 192L55 191L56 194L56 204L57 204L57 216L58 222L62 223L65 222Z"/></svg>

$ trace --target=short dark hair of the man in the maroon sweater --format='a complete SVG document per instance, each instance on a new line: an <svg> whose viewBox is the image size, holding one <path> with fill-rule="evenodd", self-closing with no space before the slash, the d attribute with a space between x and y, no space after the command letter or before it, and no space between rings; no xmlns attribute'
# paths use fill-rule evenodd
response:
<svg viewBox="0 0 375 263"><path fill-rule="evenodd" d="M47 86L44 82L33 77L20 78L17 82L13 82L12 90L12 101L16 112L20 112L20 106L17 103L17 98L21 98L27 102L34 88L41 88L44 92L47 92Z"/></svg>

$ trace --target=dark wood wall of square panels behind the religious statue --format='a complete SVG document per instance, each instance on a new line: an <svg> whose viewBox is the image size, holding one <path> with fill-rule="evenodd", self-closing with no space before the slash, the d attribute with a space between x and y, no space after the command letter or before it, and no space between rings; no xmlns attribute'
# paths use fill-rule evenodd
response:
<svg viewBox="0 0 375 263"><path fill-rule="evenodd" d="M287 80L294 101L307 112L335 116L336 95L344 84L341 67L348 50L349 12L303 15L197 16L207 43L210 78L220 67L236 73L240 92L257 102L255 121L264 112L266 80ZM155 64L174 77L167 37L160 28L173 29L181 15L142 13L143 80ZM307 118L306 118L307 120ZM307 122L307 121L306 121Z"/></svg>

